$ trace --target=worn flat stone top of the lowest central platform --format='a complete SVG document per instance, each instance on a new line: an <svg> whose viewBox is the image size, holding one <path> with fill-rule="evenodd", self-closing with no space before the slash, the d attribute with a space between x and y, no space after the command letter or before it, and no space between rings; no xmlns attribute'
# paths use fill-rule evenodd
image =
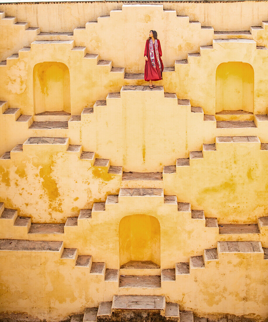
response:
<svg viewBox="0 0 268 322"><path fill-rule="evenodd" d="M159 295L114 295L113 309L164 310L166 299Z"/></svg>

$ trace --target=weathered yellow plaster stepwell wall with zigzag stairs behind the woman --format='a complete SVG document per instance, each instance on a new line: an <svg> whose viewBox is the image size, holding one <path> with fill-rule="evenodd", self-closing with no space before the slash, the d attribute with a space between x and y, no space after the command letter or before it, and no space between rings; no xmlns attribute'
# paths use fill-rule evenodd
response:
<svg viewBox="0 0 268 322"><path fill-rule="evenodd" d="M1 313L59 321L115 294L144 294L164 295L196 316L235 314L263 322L267 2L0 4L0 10L16 17L0 13L0 58L6 60L0 64L0 202L30 218L21 226L15 217L0 217L0 239L62 242L54 252L0 249ZM125 78L143 72L152 28L171 67L155 90L143 79ZM243 30L251 33L214 33ZM237 109L253 112L251 127L220 128L215 114ZM71 113L68 128L30 127L36 114L59 110ZM30 144L28 137L59 139ZM13 149L18 144L23 148ZM72 151L69 144L79 147ZM7 151L10 158L1 157ZM83 159L82 151L95 155ZM96 158L110 163L95 164ZM189 165L180 166L178 158L189 158ZM122 180L123 171L113 166L163 171L163 180ZM178 203L189 204L181 209ZM81 209L92 209L91 217L79 217ZM219 224L254 223L260 232L220 234L216 220L209 227L192 210L204 210ZM62 227L69 217L78 217L77 224L61 233L29 231L34 223ZM254 241L259 251L220 251L222 241ZM189 274L155 289L119 288L118 280L75 267L76 258L60 258L63 248L77 248L116 270L131 260L151 260L161 266L158 274L216 247L218 260L205 258L204 268L190 265Z"/></svg>

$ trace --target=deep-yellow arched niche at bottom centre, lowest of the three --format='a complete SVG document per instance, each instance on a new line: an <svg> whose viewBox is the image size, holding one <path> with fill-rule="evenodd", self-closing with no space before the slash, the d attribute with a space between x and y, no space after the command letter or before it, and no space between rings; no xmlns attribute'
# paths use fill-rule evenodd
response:
<svg viewBox="0 0 268 322"><path fill-rule="evenodd" d="M130 261L152 261L160 266L160 224L148 215L131 215L119 223L120 266Z"/></svg>

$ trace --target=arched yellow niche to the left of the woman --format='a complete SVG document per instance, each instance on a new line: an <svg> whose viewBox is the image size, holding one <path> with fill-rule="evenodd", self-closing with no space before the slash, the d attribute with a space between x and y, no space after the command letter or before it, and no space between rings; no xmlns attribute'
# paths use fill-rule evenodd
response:
<svg viewBox="0 0 268 322"><path fill-rule="evenodd" d="M35 114L45 111L70 113L70 73L61 62L42 62L33 68Z"/></svg>

